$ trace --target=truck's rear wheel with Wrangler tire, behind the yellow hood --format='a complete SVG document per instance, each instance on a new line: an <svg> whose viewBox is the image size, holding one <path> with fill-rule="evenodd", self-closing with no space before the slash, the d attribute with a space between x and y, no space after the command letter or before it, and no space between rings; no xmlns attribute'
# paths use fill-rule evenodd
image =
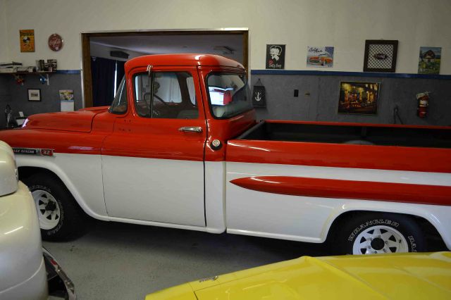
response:
<svg viewBox="0 0 451 300"><path fill-rule="evenodd" d="M366 239L369 235L377 235L371 229L378 229L383 235ZM397 237L397 233L401 237ZM403 239L405 243L402 242ZM353 214L335 226L331 242L331 249L338 249L337 254L427 251L424 232L416 220L409 215L396 213Z"/></svg>

